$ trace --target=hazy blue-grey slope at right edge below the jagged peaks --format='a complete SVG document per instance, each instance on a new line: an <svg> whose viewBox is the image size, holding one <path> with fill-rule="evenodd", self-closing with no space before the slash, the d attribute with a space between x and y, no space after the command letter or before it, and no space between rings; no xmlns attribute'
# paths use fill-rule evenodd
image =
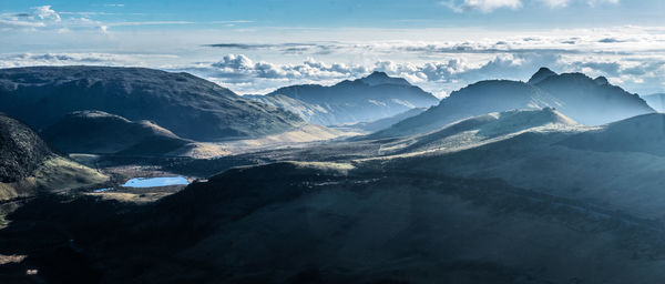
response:
<svg viewBox="0 0 665 284"><path fill-rule="evenodd" d="M652 113L583 132L562 145L603 152L642 152L665 156L665 114Z"/></svg>

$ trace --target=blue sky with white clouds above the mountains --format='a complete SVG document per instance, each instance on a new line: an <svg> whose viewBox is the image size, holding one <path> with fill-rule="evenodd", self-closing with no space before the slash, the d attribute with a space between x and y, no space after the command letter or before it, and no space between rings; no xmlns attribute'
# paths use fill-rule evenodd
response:
<svg viewBox="0 0 665 284"><path fill-rule="evenodd" d="M185 71L239 94L385 71L446 97L540 67L665 92L659 0L0 0L0 68Z"/></svg>

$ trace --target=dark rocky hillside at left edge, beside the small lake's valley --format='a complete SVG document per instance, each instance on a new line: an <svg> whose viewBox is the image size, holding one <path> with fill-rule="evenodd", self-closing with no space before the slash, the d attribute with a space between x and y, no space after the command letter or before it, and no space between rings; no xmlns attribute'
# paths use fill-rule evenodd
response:
<svg viewBox="0 0 665 284"><path fill-rule="evenodd" d="M30 175L50 154L28 125L0 113L0 182Z"/></svg>

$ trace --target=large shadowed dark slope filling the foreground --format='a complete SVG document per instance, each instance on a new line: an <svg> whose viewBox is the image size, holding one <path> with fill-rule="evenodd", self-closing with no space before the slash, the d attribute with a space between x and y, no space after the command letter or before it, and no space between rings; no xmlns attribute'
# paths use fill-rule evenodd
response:
<svg viewBox="0 0 665 284"><path fill-rule="evenodd" d="M231 170L146 209L35 201L11 220L0 253L29 250L23 277L28 266L54 283L655 284L665 275L656 222L499 180L408 170L276 163Z"/></svg>

